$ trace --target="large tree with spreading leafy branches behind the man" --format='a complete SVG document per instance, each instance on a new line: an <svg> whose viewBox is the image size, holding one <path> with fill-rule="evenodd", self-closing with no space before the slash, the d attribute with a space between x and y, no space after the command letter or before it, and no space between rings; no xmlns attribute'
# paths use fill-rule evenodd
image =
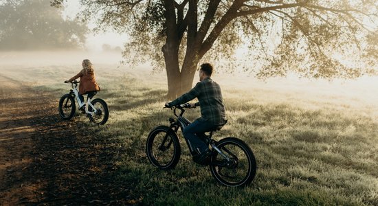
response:
<svg viewBox="0 0 378 206"><path fill-rule="evenodd" d="M130 62L165 63L169 96L190 89L200 60L236 59L239 47L260 77L353 78L377 69L376 0L80 1L98 29L131 36Z"/></svg>

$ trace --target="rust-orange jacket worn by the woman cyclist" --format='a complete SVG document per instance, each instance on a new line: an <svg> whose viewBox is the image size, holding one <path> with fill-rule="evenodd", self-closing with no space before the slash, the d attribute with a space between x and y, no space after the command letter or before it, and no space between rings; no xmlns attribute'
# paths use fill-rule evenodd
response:
<svg viewBox="0 0 378 206"><path fill-rule="evenodd" d="M68 81L71 82L73 80L76 80L79 77L80 77L80 84L79 84L80 94L85 94L88 91L100 91L100 87L98 87L94 72L88 72L87 75L85 75L85 71L84 69L82 69L78 74L76 74L76 76L74 76L73 78L70 78Z"/></svg>

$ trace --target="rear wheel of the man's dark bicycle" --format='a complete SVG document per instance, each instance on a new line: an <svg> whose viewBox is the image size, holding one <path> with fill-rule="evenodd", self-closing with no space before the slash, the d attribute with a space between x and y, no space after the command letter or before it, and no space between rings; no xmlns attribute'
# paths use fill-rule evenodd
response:
<svg viewBox="0 0 378 206"><path fill-rule="evenodd" d="M241 139L234 137L221 139L216 146L230 158L230 161L227 161L214 150L210 170L216 181L228 187L239 187L251 183L257 169L251 148Z"/></svg>

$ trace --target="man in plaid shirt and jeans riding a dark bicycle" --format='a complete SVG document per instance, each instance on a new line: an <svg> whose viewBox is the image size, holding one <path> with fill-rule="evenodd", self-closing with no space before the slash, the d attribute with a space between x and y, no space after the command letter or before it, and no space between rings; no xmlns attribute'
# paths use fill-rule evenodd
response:
<svg viewBox="0 0 378 206"><path fill-rule="evenodd" d="M201 106L201 117L184 128L183 135L197 152L193 155L193 160L201 164L206 164L211 152L199 136L227 122L221 87L210 78L212 71L213 67L210 63L202 64L196 86L173 102L166 103L166 106L171 107L184 104L194 98L198 99L199 102L190 104L190 108Z"/></svg>

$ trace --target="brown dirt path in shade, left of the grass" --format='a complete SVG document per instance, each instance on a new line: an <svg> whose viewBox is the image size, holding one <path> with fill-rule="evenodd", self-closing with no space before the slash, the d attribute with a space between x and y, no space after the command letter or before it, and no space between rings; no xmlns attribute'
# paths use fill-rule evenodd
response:
<svg viewBox="0 0 378 206"><path fill-rule="evenodd" d="M60 120L51 97L0 75L0 205L137 203L113 179L122 148Z"/></svg>

